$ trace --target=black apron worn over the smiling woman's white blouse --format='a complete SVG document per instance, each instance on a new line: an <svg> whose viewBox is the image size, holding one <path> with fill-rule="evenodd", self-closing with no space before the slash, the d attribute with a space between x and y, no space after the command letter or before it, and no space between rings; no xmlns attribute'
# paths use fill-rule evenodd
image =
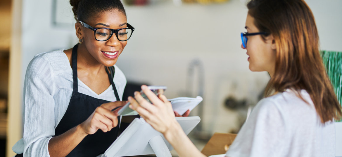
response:
<svg viewBox="0 0 342 157"><path fill-rule="evenodd" d="M73 66L73 79L74 79L74 90L71 95L71 99L68 108L55 129L55 136L61 135L68 131L69 129L81 124L86 121L89 116L94 112L96 107L101 106L101 104L108 103L109 101L96 99L90 97L89 95L82 94L78 92L77 85L77 47L75 45L73 48L73 53L71 56L72 66ZM116 90L115 84L113 82L114 77L114 67L109 67L112 75L107 70L108 78L110 84L113 86L114 94L117 101L120 101L118 92ZM120 117L118 117L120 121ZM98 129L95 134L87 135L67 156L68 157L95 157L99 154L103 154L108 147L115 141L118 136L119 127L115 127L110 130L110 132L104 133L101 129Z"/></svg>

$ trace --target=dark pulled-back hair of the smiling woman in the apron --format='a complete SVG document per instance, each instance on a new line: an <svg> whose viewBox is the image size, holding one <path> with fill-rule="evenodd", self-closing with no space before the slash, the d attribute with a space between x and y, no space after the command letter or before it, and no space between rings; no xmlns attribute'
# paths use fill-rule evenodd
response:
<svg viewBox="0 0 342 157"><path fill-rule="evenodd" d="M87 21L103 12L119 11L126 16L120 0L70 0L76 21Z"/></svg>

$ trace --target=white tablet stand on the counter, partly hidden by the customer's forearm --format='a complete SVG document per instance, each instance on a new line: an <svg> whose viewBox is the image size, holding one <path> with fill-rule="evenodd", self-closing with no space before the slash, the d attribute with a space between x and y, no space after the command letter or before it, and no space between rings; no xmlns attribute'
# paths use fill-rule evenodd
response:
<svg viewBox="0 0 342 157"><path fill-rule="evenodd" d="M187 135L200 122L199 117L176 117ZM122 134L111 144L106 157L121 157L156 154L157 157L171 157L171 144L143 118L135 118Z"/></svg>

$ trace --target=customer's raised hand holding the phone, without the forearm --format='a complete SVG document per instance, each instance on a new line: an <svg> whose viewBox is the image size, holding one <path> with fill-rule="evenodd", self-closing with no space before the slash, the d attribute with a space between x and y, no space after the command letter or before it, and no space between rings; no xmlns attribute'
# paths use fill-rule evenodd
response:
<svg viewBox="0 0 342 157"><path fill-rule="evenodd" d="M131 103L129 107L136 110L154 129L162 134L167 133L170 128L178 124L171 103L162 94L159 94L158 98L145 85L141 86L141 89L153 104L147 102L139 92L134 92L135 100L128 97Z"/></svg>

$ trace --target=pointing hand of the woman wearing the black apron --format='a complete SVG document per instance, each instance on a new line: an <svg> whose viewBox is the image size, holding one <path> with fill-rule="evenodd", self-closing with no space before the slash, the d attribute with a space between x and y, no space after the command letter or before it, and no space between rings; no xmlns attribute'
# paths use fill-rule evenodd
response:
<svg viewBox="0 0 342 157"><path fill-rule="evenodd" d="M112 110L126 103L127 101L115 101L97 107L90 117L80 124L84 133L91 135L96 133L98 129L109 132L118 125L118 109Z"/></svg>

